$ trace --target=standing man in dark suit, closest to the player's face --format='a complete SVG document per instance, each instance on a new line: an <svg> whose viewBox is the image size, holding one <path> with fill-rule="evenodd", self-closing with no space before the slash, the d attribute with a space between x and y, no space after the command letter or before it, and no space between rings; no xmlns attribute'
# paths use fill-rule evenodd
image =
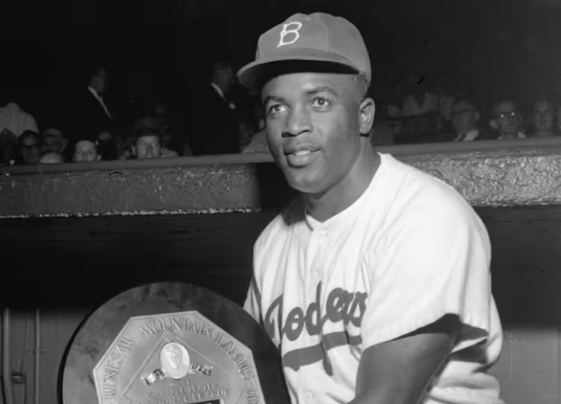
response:
<svg viewBox="0 0 561 404"><path fill-rule="evenodd" d="M236 106L228 99L235 83L229 63L213 64L211 82L197 97L196 114L191 118L189 138L194 155L240 152Z"/></svg>

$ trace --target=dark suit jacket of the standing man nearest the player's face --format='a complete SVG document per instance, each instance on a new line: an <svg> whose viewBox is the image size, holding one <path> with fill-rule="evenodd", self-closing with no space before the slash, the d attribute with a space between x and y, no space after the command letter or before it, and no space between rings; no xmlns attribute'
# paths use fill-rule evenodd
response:
<svg viewBox="0 0 561 404"><path fill-rule="evenodd" d="M189 140L193 154L214 155L240 152L238 118L235 110L212 86L206 86L192 101Z"/></svg>

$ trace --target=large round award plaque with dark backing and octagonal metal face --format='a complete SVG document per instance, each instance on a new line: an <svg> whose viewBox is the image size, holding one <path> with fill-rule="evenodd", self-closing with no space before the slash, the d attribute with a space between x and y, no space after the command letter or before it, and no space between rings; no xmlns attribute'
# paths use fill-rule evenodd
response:
<svg viewBox="0 0 561 404"><path fill-rule="evenodd" d="M288 404L280 356L241 307L200 287L135 288L67 352L64 404Z"/></svg>

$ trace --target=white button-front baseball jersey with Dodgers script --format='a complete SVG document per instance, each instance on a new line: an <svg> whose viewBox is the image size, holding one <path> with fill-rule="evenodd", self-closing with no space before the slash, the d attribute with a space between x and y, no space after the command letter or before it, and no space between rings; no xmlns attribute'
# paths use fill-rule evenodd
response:
<svg viewBox="0 0 561 404"><path fill-rule="evenodd" d="M297 198L275 217L255 244L244 307L279 347L293 404L346 404L362 350L448 313L461 337L423 403L503 404L485 372L502 347L485 226L449 185L380 158L338 215L318 222Z"/></svg>

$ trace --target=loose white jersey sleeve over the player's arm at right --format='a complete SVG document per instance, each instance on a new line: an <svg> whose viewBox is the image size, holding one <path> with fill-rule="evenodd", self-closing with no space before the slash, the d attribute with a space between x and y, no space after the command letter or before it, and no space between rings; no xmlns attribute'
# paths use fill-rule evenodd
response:
<svg viewBox="0 0 561 404"><path fill-rule="evenodd" d="M385 231L366 261L370 290L362 349L457 314L454 351L490 332L490 242L470 207L417 207Z"/></svg>

